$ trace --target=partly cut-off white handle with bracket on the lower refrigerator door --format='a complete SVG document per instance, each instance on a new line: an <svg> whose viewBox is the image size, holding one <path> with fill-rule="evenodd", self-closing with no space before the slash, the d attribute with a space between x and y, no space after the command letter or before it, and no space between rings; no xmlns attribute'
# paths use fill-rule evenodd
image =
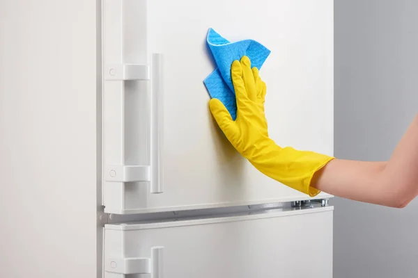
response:
<svg viewBox="0 0 418 278"><path fill-rule="evenodd" d="M104 261L104 271L122 275L150 274L153 278L162 278L164 247L152 247L151 258L121 258L109 256Z"/></svg>

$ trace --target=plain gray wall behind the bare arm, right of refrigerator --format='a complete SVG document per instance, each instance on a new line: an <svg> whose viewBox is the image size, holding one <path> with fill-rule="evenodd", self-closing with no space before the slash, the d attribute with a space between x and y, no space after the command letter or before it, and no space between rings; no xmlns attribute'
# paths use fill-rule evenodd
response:
<svg viewBox="0 0 418 278"><path fill-rule="evenodd" d="M417 112L418 1L335 0L336 156L389 159ZM418 200L333 204L334 277L418 277Z"/></svg>

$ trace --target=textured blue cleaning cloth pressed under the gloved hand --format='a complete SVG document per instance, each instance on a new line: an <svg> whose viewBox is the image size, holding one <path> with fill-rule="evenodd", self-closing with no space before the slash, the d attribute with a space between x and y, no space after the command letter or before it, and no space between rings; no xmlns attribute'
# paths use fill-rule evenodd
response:
<svg viewBox="0 0 418 278"><path fill-rule="evenodd" d="M222 101L232 119L235 120L237 104L231 79L231 65L234 60L240 60L242 56L248 56L251 67L257 67L260 70L270 55L270 50L254 40L229 42L212 28L208 31L206 42L215 59L217 69L209 74L203 83L210 97Z"/></svg>

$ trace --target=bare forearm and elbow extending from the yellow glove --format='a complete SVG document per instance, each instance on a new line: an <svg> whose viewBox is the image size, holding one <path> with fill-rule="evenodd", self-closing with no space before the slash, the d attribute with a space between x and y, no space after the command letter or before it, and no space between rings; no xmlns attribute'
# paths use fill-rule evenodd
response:
<svg viewBox="0 0 418 278"><path fill-rule="evenodd" d="M316 174L312 186L360 202L405 206L418 194L418 117L389 161L335 159Z"/></svg>

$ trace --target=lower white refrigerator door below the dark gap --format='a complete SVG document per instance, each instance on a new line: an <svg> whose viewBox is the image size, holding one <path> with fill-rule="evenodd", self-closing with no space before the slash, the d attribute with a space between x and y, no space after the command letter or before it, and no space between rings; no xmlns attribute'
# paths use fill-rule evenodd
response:
<svg viewBox="0 0 418 278"><path fill-rule="evenodd" d="M107 224L103 261L104 278L331 278L332 207Z"/></svg>

